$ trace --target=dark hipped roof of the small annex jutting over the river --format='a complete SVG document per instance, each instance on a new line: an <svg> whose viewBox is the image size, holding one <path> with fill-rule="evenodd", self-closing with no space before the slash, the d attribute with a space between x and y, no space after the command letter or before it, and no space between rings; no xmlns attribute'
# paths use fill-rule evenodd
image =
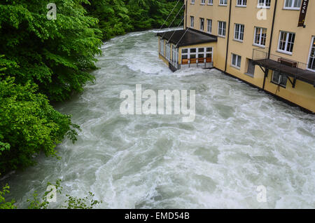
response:
<svg viewBox="0 0 315 223"><path fill-rule="evenodd" d="M179 29L169 32L159 32L157 36L167 39L177 46L190 46L200 43L211 43L218 41L217 37L211 34L198 32L195 29Z"/></svg>

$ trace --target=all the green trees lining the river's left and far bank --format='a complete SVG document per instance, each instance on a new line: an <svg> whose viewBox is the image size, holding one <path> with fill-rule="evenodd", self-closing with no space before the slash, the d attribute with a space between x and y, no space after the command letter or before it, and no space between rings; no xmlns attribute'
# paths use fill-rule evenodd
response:
<svg viewBox="0 0 315 223"><path fill-rule="evenodd" d="M57 157L64 137L75 142L79 126L50 103L68 100L94 80L90 71L97 69L102 41L160 28L177 0L55 0L52 20L49 3L0 0L0 173L34 165L41 153Z"/></svg>

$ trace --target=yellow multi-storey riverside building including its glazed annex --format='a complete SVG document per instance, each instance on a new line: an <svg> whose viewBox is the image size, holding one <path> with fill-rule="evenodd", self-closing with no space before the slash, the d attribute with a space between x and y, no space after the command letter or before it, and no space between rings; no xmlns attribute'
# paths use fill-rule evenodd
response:
<svg viewBox="0 0 315 223"><path fill-rule="evenodd" d="M170 69L214 67L315 112L315 1L184 4L184 29L158 34Z"/></svg>

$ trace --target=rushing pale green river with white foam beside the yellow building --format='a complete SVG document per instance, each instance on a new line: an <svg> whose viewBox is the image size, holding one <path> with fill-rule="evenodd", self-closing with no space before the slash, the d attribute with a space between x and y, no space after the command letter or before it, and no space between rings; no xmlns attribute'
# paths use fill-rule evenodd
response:
<svg viewBox="0 0 315 223"><path fill-rule="evenodd" d="M96 81L57 109L73 115L78 142L61 160L10 177L20 208L47 182L64 194L92 191L99 208L315 208L315 120L217 70L172 73L158 59L157 31L119 36L102 46ZM195 89L196 119L120 114L120 92ZM259 185L267 202L259 203ZM57 207L64 195L57 197Z"/></svg>

